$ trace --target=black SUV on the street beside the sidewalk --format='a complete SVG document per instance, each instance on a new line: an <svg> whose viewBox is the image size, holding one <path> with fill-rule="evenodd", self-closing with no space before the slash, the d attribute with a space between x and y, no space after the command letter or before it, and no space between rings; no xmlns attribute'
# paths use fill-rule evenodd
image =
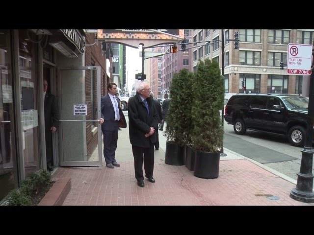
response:
<svg viewBox="0 0 314 235"><path fill-rule="evenodd" d="M303 147L308 105L309 100L298 94L235 94L227 102L224 118L234 125L235 134L244 135L247 129L272 133Z"/></svg>

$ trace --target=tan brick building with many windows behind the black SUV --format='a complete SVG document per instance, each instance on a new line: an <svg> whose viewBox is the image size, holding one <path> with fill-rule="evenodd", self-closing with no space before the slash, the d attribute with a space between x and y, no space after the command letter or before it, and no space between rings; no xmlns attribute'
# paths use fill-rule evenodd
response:
<svg viewBox="0 0 314 235"><path fill-rule="evenodd" d="M238 49L229 41L235 32L240 40ZM302 94L303 76L287 73L288 44L313 45L313 33L313 29L193 29L192 71L197 70L198 60L206 58L217 60L222 68L223 54L226 93Z"/></svg>

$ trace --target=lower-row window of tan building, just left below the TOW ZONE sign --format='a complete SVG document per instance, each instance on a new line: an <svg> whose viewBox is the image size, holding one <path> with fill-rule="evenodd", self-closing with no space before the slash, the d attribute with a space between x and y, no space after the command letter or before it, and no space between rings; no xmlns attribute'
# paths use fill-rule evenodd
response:
<svg viewBox="0 0 314 235"><path fill-rule="evenodd" d="M288 75L268 74L267 93L288 94Z"/></svg>

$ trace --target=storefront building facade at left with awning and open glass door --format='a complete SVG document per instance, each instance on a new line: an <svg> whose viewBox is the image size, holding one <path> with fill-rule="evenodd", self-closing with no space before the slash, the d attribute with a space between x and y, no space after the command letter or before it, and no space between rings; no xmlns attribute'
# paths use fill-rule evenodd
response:
<svg viewBox="0 0 314 235"><path fill-rule="evenodd" d="M104 49L89 30L0 29L0 203L46 168L43 79L59 113L53 164L96 165L98 97L112 81ZM80 105L83 115L76 113Z"/></svg>

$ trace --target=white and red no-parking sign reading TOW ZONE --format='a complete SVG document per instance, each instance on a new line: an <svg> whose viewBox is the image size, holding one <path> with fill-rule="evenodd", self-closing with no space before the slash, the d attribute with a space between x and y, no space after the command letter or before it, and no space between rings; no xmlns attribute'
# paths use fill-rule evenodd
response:
<svg viewBox="0 0 314 235"><path fill-rule="evenodd" d="M311 74L313 45L288 44L287 72L289 74Z"/></svg>

